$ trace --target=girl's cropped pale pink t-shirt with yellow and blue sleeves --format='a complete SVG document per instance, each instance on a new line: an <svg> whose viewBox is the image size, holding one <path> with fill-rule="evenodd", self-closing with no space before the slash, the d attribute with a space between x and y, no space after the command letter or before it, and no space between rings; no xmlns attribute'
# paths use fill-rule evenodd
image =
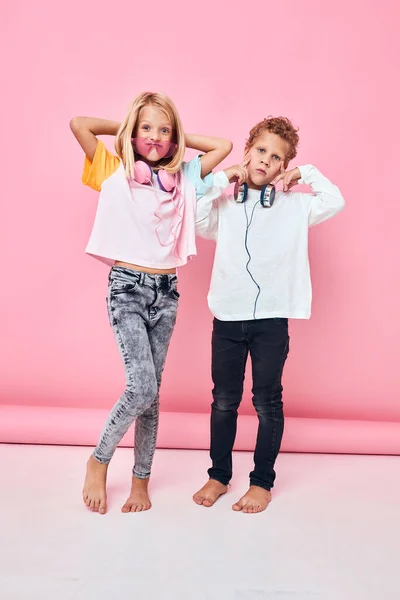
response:
<svg viewBox="0 0 400 600"><path fill-rule="evenodd" d="M113 264L123 261L151 267L180 267L196 254L196 193L212 185L201 178L200 157L183 163L171 192L128 180L122 161L97 143L93 161L85 158L82 182L100 192L86 252Z"/></svg>

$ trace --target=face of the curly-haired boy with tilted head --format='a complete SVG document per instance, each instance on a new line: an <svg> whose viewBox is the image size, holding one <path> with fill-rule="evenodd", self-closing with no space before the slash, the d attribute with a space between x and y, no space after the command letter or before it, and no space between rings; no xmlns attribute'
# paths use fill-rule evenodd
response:
<svg viewBox="0 0 400 600"><path fill-rule="evenodd" d="M289 144L276 133L264 131L256 138L254 144L246 147L246 156L250 159L247 165L248 186L262 189L285 168Z"/></svg>

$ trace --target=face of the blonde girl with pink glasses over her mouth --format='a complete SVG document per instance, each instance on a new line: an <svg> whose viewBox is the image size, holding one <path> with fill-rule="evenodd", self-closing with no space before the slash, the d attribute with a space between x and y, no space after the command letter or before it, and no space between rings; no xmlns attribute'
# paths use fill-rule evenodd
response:
<svg viewBox="0 0 400 600"><path fill-rule="evenodd" d="M171 156L176 144L173 144L174 130L167 115L151 104L142 108L133 138L133 147L137 154L147 162L157 163Z"/></svg>

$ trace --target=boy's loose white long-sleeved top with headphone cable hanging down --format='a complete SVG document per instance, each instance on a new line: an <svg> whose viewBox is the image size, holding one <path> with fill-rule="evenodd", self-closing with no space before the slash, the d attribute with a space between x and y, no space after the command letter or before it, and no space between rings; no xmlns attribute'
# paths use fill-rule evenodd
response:
<svg viewBox="0 0 400 600"><path fill-rule="evenodd" d="M312 165L299 167L313 193L276 192L271 208L248 190L243 204L223 194L223 171L197 201L196 233L217 243L208 305L221 321L311 315L308 228L344 207L339 189Z"/></svg>

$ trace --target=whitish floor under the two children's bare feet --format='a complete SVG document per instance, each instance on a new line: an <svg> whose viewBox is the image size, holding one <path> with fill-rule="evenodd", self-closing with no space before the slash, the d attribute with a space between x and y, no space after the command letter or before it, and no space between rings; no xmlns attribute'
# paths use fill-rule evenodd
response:
<svg viewBox="0 0 400 600"><path fill-rule="evenodd" d="M202 451L158 450L153 508L122 514L132 451L109 473L109 512L81 503L88 448L0 445L1 600L391 600L400 598L400 457L281 454L273 501L231 510L191 500Z"/></svg>

